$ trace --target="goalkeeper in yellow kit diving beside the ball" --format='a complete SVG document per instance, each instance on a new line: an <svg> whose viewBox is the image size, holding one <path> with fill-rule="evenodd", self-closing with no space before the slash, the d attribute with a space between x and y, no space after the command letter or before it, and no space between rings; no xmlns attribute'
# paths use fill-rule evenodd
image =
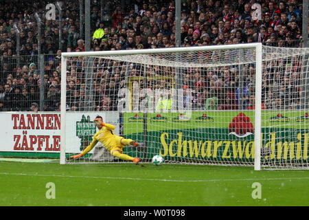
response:
<svg viewBox="0 0 309 220"><path fill-rule="evenodd" d="M98 142L101 142L103 146L111 152L111 155L114 157L118 157L119 159L124 159L128 161L132 161L135 164L139 164L140 159L138 157L130 157L129 155L124 154L122 151L122 148L124 148L127 145L131 146L138 146L139 144L131 139L125 139L124 137L119 137L118 135L115 135L113 133L113 130L115 130L115 126L113 124L107 124L103 122L103 119L100 115L98 115L93 122L95 123L95 126L99 129L95 135L93 135L93 140L87 148L82 151L82 153L78 155L73 155L70 157L70 159L78 159L79 157L82 157L89 153L89 151L92 150L92 148L95 147L95 145Z"/></svg>

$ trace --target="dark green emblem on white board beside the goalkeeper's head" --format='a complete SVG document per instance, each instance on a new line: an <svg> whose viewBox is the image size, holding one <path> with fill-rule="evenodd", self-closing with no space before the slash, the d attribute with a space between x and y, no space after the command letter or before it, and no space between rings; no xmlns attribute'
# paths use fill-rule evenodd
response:
<svg viewBox="0 0 309 220"><path fill-rule="evenodd" d="M86 118L85 115L82 115L82 120L76 122L76 136L80 138L80 151L91 143L96 131L97 129L93 121L90 120L90 116L88 115Z"/></svg>

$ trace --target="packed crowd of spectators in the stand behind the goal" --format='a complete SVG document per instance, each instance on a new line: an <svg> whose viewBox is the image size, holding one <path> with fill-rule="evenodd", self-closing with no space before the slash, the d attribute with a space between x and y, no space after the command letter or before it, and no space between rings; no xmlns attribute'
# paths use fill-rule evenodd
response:
<svg viewBox="0 0 309 220"><path fill-rule="evenodd" d="M174 1L128 1L123 9L120 1L104 1L100 17L100 1L91 1L91 50L131 50L175 47ZM181 47L224 45L261 42L275 47L301 47L301 1L297 0L183 0L181 6ZM62 52L84 52L84 36L79 32L78 1L63 1L62 48L59 48L58 20L42 25L42 48L45 54L44 78L38 69L38 25L34 12L43 14L47 1L3 1L0 3L0 111L38 111L41 86L45 88L44 111L60 110L60 58ZM10 10L5 10L10 8ZM17 66L16 33L14 23L21 33L20 66ZM126 76L143 76L139 68L126 71L124 63L111 61L93 63L96 110L117 110L118 101L124 96L122 89L128 85ZM291 65L275 76L264 68L264 108L299 107L299 64ZM279 64L277 64L279 65ZM295 68L294 68L295 67ZM286 67L288 68L288 67ZM295 70L296 69L296 70ZM294 71L295 70L295 71ZM166 76L163 67L149 67L154 76L168 79L139 82L141 89L166 89L173 70ZM254 68L244 66L242 73L251 76ZM185 69L182 89L184 102L194 109L253 109L253 82L240 85L240 69ZM146 75L146 73L144 74ZM268 76L269 75L269 76ZM84 61L72 60L67 72L67 109L83 109L90 95L87 94ZM294 86L295 85L295 86ZM276 93L272 89L279 88ZM231 89L233 88L233 89ZM244 103L240 104L240 88ZM269 96L265 95L269 94ZM267 97L267 98L266 98ZM145 96L141 95L143 100ZM166 97L165 97L166 98ZM168 99L170 97L167 97ZM157 110L169 109L167 100L159 101ZM274 103L275 102L275 103ZM165 104L164 104L165 103Z"/></svg>

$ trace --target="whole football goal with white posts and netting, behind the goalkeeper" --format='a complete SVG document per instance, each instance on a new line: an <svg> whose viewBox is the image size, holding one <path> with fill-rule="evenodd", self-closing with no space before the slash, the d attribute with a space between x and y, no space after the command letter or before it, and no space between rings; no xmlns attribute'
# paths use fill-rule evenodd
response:
<svg viewBox="0 0 309 220"><path fill-rule="evenodd" d="M260 43L62 54L60 163L126 162L99 142L100 115L150 162L309 168L308 49ZM63 92L65 91L65 92Z"/></svg>

